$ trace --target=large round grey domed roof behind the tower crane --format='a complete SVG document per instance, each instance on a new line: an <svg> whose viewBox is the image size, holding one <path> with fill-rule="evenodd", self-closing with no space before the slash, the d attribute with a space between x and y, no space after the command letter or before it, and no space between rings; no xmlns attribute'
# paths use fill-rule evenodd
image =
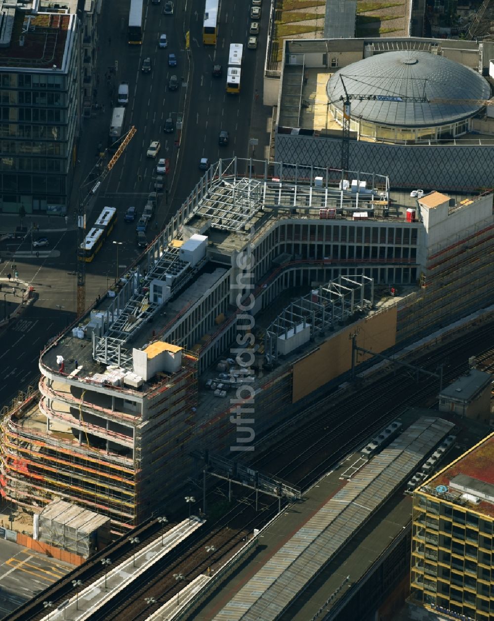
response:
<svg viewBox="0 0 494 621"><path fill-rule="evenodd" d="M359 60L331 76L326 86L329 101L343 108L343 84L349 94L376 97L441 99L489 99L487 80L449 58L404 50L385 52ZM351 97L351 116L380 125L431 127L473 116L482 106L433 104L410 101L359 101Z"/></svg>

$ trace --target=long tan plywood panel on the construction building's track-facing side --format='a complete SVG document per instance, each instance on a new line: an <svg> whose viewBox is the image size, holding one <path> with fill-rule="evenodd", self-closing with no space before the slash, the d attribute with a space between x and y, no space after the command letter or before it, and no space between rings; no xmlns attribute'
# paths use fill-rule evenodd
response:
<svg viewBox="0 0 494 621"><path fill-rule="evenodd" d="M357 345L380 353L396 342L397 308L370 315L349 325L335 337L321 343L312 354L294 365L294 388L292 403L315 391L323 384L337 378L352 366L352 343L350 335L358 330ZM359 354L357 365L371 356Z"/></svg>

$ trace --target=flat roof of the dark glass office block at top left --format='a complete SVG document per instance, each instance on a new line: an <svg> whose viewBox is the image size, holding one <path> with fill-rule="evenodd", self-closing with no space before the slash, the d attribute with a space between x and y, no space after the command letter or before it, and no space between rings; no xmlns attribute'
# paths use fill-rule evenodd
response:
<svg viewBox="0 0 494 621"><path fill-rule="evenodd" d="M67 9L38 14L19 8L2 7L2 10L5 15L0 39L0 68L64 69L66 42L69 31L74 29L74 14L67 14Z"/></svg>

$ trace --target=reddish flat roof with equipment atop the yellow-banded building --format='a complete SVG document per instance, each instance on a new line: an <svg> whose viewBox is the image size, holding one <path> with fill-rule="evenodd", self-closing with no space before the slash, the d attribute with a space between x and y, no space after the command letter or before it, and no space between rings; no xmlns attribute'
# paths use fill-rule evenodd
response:
<svg viewBox="0 0 494 621"><path fill-rule="evenodd" d="M456 479L459 475L464 475L468 479ZM441 470L437 476L426 481L426 484L420 487L420 490L425 493L433 492L434 496L444 497L448 501L456 502L457 504L465 504L460 502L462 494L458 491L459 487L455 488L455 479L456 486L458 483L465 484L468 489L472 490L470 494L473 496L475 496L475 492L480 496L483 489L482 484L488 484L489 489L491 485L494 485L494 433L490 433L490 435L470 448L464 455ZM446 496L438 492L438 486L447 487ZM493 502L482 500L480 503L475 504L475 510L494 517Z"/></svg>

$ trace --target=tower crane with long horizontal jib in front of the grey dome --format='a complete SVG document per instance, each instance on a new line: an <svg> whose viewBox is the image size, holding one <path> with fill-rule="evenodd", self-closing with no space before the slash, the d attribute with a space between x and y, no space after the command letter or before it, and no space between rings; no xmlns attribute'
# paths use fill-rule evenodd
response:
<svg viewBox="0 0 494 621"><path fill-rule="evenodd" d="M350 101L357 99L357 101L393 101L398 103L411 102L414 104L451 104L451 105L465 105L465 106L494 106L494 99L444 99L441 97L434 97L428 99L425 95L425 84L423 95L421 97L412 97L405 95L358 95L349 94L346 90L343 76L339 75L341 84L345 96L341 96L339 99L343 102L343 135L341 138L341 170L347 171L349 168L349 154L350 154Z"/></svg>

